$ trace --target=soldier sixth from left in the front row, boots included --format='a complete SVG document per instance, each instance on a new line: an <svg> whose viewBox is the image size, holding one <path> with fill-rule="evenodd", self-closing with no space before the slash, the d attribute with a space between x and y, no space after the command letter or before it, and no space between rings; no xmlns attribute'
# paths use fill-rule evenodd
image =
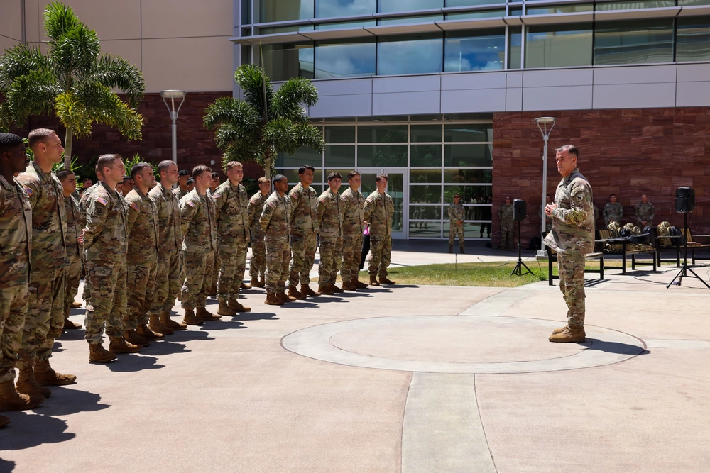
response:
<svg viewBox="0 0 710 473"><path fill-rule="evenodd" d="M182 284L182 308L184 323L202 325L204 321L217 321L207 311L207 289L212 285L212 265L217 250L217 221L214 200L207 195L212 182L212 169L195 166L192 169L195 189L180 199L182 226L182 251L185 253L185 284ZM197 309L197 311L195 311Z"/></svg>

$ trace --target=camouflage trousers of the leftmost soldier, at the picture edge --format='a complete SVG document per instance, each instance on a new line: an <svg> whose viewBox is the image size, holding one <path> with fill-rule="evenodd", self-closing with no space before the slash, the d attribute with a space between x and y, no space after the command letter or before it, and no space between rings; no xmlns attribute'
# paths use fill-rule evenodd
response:
<svg viewBox="0 0 710 473"><path fill-rule="evenodd" d="M29 301L26 284L0 289L0 382L15 378Z"/></svg>

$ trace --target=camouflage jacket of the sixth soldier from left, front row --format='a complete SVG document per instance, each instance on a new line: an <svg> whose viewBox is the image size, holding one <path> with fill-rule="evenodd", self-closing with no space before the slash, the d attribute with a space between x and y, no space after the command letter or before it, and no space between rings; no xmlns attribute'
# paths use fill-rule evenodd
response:
<svg viewBox="0 0 710 473"><path fill-rule="evenodd" d="M217 251L217 218L212 197L200 196L197 189L180 199L182 250L191 253Z"/></svg>

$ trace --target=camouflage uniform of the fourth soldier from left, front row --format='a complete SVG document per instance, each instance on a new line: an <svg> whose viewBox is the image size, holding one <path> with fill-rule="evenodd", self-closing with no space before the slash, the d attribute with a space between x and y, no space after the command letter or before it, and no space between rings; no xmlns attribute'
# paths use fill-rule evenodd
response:
<svg viewBox="0 0 710 473"><path fill-rule="evenodd" d="M158 277L158 212L148 194L133 187L126 195L128 218L126 232L126 290L131 297L124 316L124 330L136 330L148 323L153 308L155 280Z"/></svg>

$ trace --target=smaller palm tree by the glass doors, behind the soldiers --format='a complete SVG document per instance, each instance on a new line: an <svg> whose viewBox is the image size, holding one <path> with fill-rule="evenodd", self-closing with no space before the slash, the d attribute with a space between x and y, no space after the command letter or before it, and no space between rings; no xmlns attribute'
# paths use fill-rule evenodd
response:
<svg viewBox="0 0 710 473"><path fill-rule="evenodd" d="M275 157L289 155L302 146L322 152L325 142L318 128L308 124L305 106L314 106L318 91L310 80L293 77L277 91L262 67L241 65L234 81L244 100L220 97L205 110L204 126L215 130L214 141L224 152L223 162L254 160L267 179Z"/></svg>

